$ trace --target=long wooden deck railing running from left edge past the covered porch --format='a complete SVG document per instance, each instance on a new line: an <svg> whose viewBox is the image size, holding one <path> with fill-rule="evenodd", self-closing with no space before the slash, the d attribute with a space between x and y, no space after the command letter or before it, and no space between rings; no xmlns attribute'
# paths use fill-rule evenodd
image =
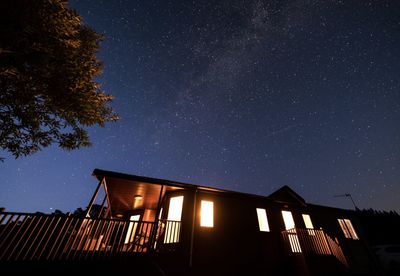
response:
<svg viewBox="0 0 400 276"><path fill-rule="evenodd" d="M90 260L179 243L180 222L0 213L0 261ZM172 238L171 238L172 237Z"/></svg>

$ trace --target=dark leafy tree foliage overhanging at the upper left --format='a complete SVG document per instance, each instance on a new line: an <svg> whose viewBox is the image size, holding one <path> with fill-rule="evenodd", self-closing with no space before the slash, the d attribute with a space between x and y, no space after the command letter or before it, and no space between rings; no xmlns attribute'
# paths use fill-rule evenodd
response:
<svg viewBox="0 0 400 276"><path fill-rule="evenodd" d="M90 145L118 116L95 78L102 36L62 0L0 1L0 147L16 158Z"/></svg>

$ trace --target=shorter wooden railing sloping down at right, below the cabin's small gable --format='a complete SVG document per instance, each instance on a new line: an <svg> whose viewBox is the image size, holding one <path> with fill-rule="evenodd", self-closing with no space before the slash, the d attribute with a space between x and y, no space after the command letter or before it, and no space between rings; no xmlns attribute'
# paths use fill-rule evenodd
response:
<svg viewBox="0 0 400 276"><path fill-rule="evenodd" d="M288 253L333 255L348 267L346 257L338 241L332 239L323 230L293 228L282 231L285 249Z"/></svg>

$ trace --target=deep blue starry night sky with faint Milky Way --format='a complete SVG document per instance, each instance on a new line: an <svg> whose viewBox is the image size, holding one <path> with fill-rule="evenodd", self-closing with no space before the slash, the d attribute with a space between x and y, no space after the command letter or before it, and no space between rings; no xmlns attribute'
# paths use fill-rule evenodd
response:
<svg viewBox="0 0 400 276"><path fill-rule="evenodd" d="M0 207L73 211L94 168L400 211L400 1L70 1L122 117L0 163Z"/></svg>

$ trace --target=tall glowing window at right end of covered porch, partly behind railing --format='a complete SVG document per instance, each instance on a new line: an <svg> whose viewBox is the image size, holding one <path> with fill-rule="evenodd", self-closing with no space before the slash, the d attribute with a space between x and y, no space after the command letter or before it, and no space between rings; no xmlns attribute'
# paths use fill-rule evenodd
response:
<svg viewBox="0 0 400 276"><path fill-rule="evenodd" d="M183 196L175 196L169 199L167 223L165 226L164 243L179 242L181 230Z"/></svg>

